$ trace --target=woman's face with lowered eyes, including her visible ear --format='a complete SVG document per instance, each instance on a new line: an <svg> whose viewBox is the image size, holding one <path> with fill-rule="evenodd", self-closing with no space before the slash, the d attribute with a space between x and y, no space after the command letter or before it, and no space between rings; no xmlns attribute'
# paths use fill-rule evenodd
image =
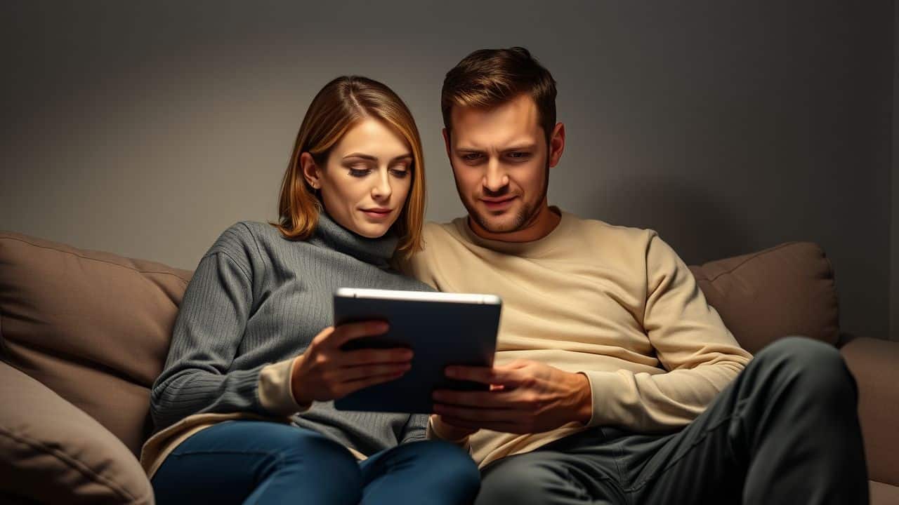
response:
<svg viewBox="0 0 899 505"><path fill-rule="evenodd" d="M325 170L308 153L300 163L334 221L369 238L387 233L412 187L411 149L393 129L372 118L347 130L328 155Z"/></svg>

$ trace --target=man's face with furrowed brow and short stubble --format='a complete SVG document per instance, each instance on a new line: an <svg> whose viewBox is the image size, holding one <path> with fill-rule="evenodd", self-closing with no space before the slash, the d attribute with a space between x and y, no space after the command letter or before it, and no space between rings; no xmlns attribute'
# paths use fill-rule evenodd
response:
<svg viewBox="0 0 899 505"><path fill-rule="evenodd" d="M468 215L489 234L528 228L547 207L549 167L561 149L549 153L538 118L527 94L493 109L452 109L452 131L443 137L456 189Z"/></svg>

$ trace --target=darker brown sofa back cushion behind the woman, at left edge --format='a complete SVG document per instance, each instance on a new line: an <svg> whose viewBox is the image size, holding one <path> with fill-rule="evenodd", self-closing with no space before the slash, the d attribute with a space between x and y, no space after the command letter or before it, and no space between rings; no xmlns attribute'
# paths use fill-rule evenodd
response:
<svg viewBox="0 0 899 505"><path fill-rule="evenodd" d="M0 350L138 454L191 272L0 233Z"/></svg>

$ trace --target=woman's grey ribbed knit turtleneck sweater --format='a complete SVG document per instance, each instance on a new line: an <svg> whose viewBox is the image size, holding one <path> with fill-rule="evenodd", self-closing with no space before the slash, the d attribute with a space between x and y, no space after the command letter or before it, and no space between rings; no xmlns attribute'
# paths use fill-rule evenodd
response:
<svg viewBox="0 0 899 505"><path fill-rule="evenodd" d="M432 290L390 270L397 239L369 239L324 213L307 241L271 225L230 226L200 260L175 320L165 369L153 385L155 432L200 412L266 412L263 367L303 353L334 323L337 288ZM372 455L424 438L427 416L342 412L314 403L294 423Z"/></svg>

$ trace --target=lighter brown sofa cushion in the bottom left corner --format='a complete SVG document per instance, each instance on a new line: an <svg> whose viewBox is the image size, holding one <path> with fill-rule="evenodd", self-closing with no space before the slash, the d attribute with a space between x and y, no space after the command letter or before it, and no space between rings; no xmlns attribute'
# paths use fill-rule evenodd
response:
<svg viewBox="0 0 899 505"><path fill-rule="evenodd" d="M153 503L119 439L47 386L0 362L0 496L36 503ZM5 502L5 501L4 501Z"/></svg>

